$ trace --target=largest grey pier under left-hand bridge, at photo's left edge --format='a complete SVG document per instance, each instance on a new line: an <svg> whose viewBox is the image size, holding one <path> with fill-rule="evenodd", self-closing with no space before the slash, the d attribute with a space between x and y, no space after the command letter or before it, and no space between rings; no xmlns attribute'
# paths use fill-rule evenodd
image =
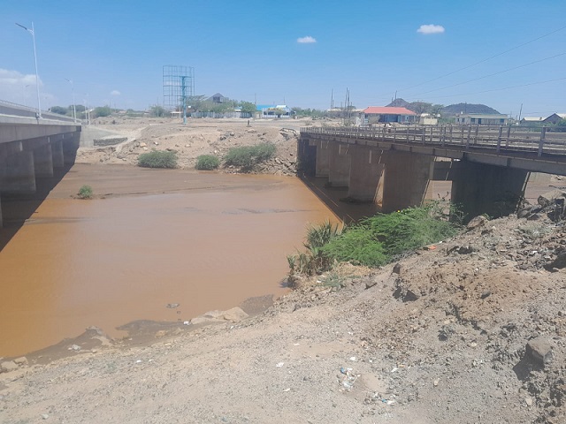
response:
<svg viewBox="0 0 566 424"><path fill-rule="evenodd" d="M35 193L34 153L21 151L0 157L0 193Z"/></svg>

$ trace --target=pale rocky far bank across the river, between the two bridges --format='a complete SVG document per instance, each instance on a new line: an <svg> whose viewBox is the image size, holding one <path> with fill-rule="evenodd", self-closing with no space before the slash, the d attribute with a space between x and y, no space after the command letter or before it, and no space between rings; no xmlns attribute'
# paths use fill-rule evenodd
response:
<svg viewBox="0 0 566 424"><path fill-rule="evenodd" d="M249 124L248 124L249 123ZM299 129L312 125L301 119L188 119L183 125L179 119L160 118L98 118L94 128L111 131L127 137L116 146L80 148L78 163L137 164L138 155L156 150L174 150L179 166L194 169L199 155L217 155L222 158L229 148L272 142L277 154L256 167L255 172L294 175L296 170L296 140ZM233 168L222 168L235 172Z"/></svg>

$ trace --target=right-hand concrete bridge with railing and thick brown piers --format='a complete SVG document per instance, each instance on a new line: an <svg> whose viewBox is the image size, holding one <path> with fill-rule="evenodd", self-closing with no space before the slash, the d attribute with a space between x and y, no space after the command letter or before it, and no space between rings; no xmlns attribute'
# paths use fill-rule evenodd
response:
<svg viewBox="0 0 566 424"><path fill-rule="evenodd" d="M566 133L481 125L302 128L298 155L305 172L384 212L421 205L430 181L444 180L468 216L496 216L516 208L532 173L566 175Z"/></svg>

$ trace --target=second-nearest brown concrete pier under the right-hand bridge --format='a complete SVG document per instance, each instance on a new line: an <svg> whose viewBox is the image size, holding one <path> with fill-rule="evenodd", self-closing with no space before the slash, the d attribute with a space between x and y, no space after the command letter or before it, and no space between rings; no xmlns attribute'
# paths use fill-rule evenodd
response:
<svg viewBox="0 0 566 424"><path fill-rule="evenodd" d="M434 170L434 156L386 152L382 210L420 206Z"/></svg>

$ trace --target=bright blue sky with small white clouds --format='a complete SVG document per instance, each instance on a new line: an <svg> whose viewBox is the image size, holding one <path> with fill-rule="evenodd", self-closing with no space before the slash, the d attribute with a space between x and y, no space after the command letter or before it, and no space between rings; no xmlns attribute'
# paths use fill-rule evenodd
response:
<svg viewBox="0 0 566 424"><path fill-rule="evenodd" d="M1 10L0 100L37 104L32 36L14 25L33 21L42 109L73 102L65 79L77 103L145 109L163 102L163 65L175 64L195 68L197 95L257 103L328 109L348 88L358 108L397 91L513 116L522 103L523 116L566 112L563 0L2 0Z"/></svg>

